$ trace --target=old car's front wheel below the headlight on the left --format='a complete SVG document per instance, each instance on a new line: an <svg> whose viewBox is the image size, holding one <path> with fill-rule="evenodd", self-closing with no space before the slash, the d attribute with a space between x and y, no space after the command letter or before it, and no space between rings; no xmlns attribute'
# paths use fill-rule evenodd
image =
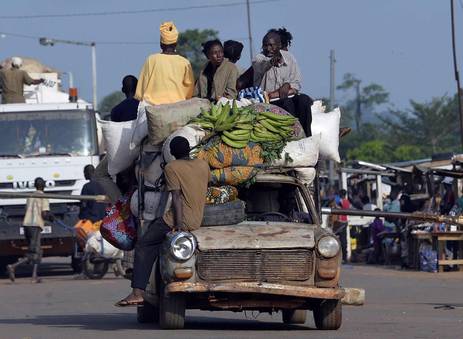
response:
<svg viewBox="0 0 463 339"><path fill-rule="evenodd" d="M181 330L185 323L186 294L174 292L166 296L163 281L159 294L159 326L163 330Z"/></svg>

